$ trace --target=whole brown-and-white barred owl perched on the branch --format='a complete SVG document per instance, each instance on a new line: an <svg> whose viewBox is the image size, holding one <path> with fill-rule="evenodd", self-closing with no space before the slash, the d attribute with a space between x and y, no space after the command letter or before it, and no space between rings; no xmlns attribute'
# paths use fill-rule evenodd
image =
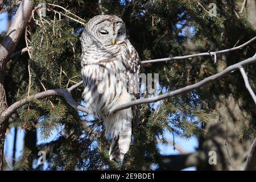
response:
<svg viewBox="0 0 256 182"><path fill-rule="evenodd" d="M110 160L121 162L138 123L139 107L113 111L139 97L138 79L133 74L139 74L141 61L127 39L125 23L117 16L94 16L86 23L80 40L85 85L82 97L86 107L103 119L105 137L112 139Z"/></svg>

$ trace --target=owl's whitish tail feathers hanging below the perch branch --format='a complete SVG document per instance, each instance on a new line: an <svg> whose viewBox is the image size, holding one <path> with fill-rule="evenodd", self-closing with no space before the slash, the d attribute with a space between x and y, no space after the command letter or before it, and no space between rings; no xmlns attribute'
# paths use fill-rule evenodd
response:
<svg viewBox="0 0 256 182"><path fill-rule="evenodd" d="M117 111L104 118L105 137L112 139L109 149L110 160L122 162L131 143L131 122L133 115L131 108Z"/></svg>

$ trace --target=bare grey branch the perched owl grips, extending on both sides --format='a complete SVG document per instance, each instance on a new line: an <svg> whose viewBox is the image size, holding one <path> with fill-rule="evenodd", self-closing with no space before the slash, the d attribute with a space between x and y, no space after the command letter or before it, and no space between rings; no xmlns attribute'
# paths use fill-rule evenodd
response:
<svg viewBox="0 0 256 182"><path fill-rule="evenodd" d="M129 108L131 106L135 106L135 105L141 105L141 104L147 104L147 103L150 103L150 102L160 101L160 100L163 100L163 99L168 98L168 97L177 96L179 94L186 93L186 92L189 92L189 91L194 90L194 89L198 89L201 86L204 86L205 84L207 84L208 82L216 80L217 78L221 78L221 77L227 75L228 73L233 72L233 71L241 68L244 65L255 63L255 62L256 62L256 57L251 57L249 59L241 61L240 63L230 65L228 68L224 69L220 73L209 76L209 77L205 78L204 80L202 80L200 82L197 82L196 84L188 85L188 86L185 86L184 88L180 88L180 89L174 90L172 92L161 94L160 96L155 96L155 97L151 97L151 98L141 98L139 100L131 101L127 104L119 105L119 106L117 106L117 108L114 109L114 112L119 111L119 110L123 110L123 109L127 109L127 108ZM49 96L62 96L62 97L65 98L65 100L68 102L68 104L71 105L72 107L74 107L75 109L83 111L83 112L88 113L88 114L92 114L92 111L86 109L84 106L77 103L71 95L71 91L73 89L78 88L81 85L82 85L82 81L80 81L79 83L71 86L68 89L46 90L44 92L40 92L40 93L34 94L32 96L26 97L23 100L17 101L13 105L8 107L8 109L3 111L3 113L0 115L0 121L3 121L3 120L1 120L2 118L7 118L10 114L14 113L14 111L16 109L18 109L19 107L21 107L25 104L28 104L32 100L42 99L42 98L46 98L46 97L49 97Z"/></svg>

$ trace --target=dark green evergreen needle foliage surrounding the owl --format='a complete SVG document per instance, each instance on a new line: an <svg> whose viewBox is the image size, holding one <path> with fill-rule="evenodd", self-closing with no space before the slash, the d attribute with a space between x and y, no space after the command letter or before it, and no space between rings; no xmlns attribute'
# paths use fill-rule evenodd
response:
<svg viewBox="0 0 256 182"><path fill-rule="evenodd" d="M33 47L30 56L22 55L8 63L6 90L10 104L28 94L68 88L81 80L79 37L82 24L72 20L77 19L76 16L48 3L65 7L84 19L85 23L100 13L120 16L142 60L230 48L238 40L243 43L256 34L246 17L237 18L234 13L239 1L211 1L217 5L216 16L209 16L209 1L203 0L108 0L101 1L100 5L93 0L36 0L35 6L40 2L46 2L48 11L47 16L42 18L35 12L35 19L28 24L27 38L24 39L27 39L28 46ZM196 49L189 49L188 43ZM23 47L26 43L21 41L18 49ZM144 73L159 73L161 94L198 82L228 65L253 56L255 49L254 44L226 56L218 56L217 64L209 56L147 64L143 65L143 69ZM251 86L256 90L255 64L247 65L245 69ZM61 97L34 100L20 107L18 117L11 126L26 131L36 129L40 131L40 139L46 139L53 131L61 129L52 142L35 146L35 151L47 152L48 170L150 169L152 164L162 162L158 143L159 140L167 143L166 134L185 139L204 136L205 123L219 117L215 107L219 99L216 96L220 94L227 96L233 93L237 100L243 101L241 105L254 118L254 122L241 129L241 138L255 134L255 105L241 85L242 77L236 72L200 90L157 104L142 105L140 124L134 131L133 144L122 165L109 161L109 141L104 137L102 121L73 109ZM81 86L72 92L78 102L82 101L82 90ZM42 166L36 165L38 155L35 151L26 148L15 169L42 169ZM30 160L34 165L29 165Z"/></svg>

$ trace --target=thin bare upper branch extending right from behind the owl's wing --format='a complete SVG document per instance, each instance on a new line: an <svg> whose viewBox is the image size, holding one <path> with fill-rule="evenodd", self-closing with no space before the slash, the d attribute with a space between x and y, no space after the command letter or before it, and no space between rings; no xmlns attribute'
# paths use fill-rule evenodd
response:
<svg viewBox="0 0 256 182"><path fill-rule="evenodd" d="M158 63L158 62L163 62L163 61L172 61L172 60L181 60L181 59L188 59L190 57L197 57L197 56L214 56L214 61L216 61L216 56L220 53L226 53L226 52L231 52L231 51L236 51L238 49L241 49L247 45L249 45L250 43L254 42L256 40L256 36L252 39L250 39L248 42L237 46L237 47L233 47L233 48L229 48L229 49L224 49L221 51L214 51L214 52L203 52L203 53L196 53L194 55L187 55L187 56L175 56L175 57L167 57L167 58L162 58L162 59L153 59L153 60L146 60L146 61L142 61L142 64L147 64L147 63Z"/></svg>

